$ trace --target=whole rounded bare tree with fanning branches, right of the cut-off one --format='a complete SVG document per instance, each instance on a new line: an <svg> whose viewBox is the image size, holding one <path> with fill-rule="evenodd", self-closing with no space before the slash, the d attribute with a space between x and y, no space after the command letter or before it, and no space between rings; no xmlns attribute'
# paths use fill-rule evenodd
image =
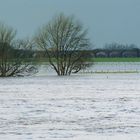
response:
<svg viewBox="0 0 140 140"><path fill-rule="evenodd" d="M87 30L73 17L63 14L43 26L35 37L57 75L70 75L86 67L85 50L89 48Z"/></svg>

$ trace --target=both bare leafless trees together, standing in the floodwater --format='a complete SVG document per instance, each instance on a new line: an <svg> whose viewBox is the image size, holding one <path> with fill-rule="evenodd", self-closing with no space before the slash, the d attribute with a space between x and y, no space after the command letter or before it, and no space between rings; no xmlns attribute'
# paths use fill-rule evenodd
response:
<svg viewBox="0 0 140 140"><path fill-rule="evenodd" d="M63 14L40 28L31 40L16 40L16 31L0 24L0 76L37 72L33 65L36 48L44 52L57 75L70 75L87 66L84 51L89 47L87 30Z"/></svg>

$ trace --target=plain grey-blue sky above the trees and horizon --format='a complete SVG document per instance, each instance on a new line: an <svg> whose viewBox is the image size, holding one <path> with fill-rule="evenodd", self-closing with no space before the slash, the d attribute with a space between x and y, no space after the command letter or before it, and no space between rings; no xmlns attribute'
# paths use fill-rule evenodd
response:
<svg viewBox="0 0 140 140"><path fill-rule="evenodd" d="M96 47L111 42L140 46L140 0L0 0L0 20L16 28L19 37L32 36L61 12L75 15Z"/></svg>

